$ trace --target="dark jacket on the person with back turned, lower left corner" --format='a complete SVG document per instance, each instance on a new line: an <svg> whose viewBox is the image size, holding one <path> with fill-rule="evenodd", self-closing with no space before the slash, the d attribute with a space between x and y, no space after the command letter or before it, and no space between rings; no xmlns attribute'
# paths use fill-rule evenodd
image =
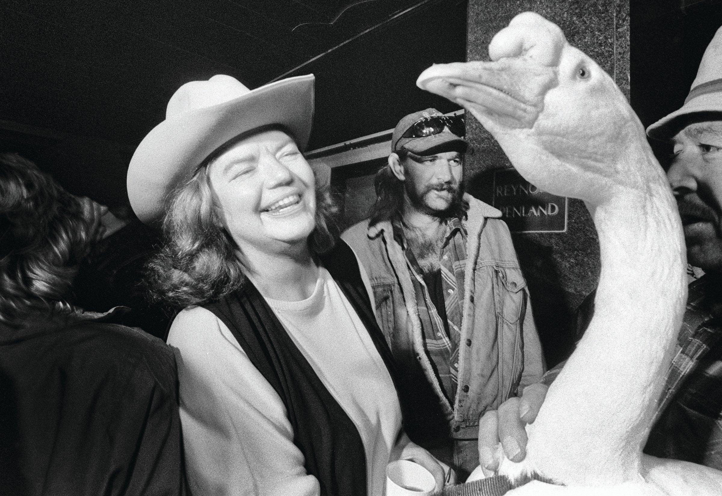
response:
<svg viewBox="0 0 722 496"><path fill-rule="evenodd" d="M175 359L111 314L0 324L0 495L183 495Z"/></svg>

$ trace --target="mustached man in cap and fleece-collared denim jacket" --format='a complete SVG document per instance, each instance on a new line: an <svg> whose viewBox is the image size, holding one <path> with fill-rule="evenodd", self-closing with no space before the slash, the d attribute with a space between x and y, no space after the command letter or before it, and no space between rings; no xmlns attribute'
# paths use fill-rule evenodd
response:
<svg viewBox="0 0 722 496"><path fill-rule="evenodd" d="M371 218L342 238L371 280L406 432L465 477L479 417L539 381L544 359L501 213L464 194L462 136L435 109L401 119Z"/></svg>

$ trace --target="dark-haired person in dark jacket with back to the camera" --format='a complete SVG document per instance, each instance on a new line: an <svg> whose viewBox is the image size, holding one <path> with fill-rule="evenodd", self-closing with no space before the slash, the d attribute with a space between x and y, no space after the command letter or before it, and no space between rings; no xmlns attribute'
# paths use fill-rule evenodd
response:
<svg viewBox="0 0 722 496"><path fill-rule="evenodd" d="M71 304L101 213L0 154L1 495L186 492L173 352Z"/></svg>

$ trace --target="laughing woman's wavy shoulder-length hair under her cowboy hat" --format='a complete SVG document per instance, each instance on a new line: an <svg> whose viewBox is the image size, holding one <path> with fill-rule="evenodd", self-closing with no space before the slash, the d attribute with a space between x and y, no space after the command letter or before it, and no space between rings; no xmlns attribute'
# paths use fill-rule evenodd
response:
<svg viewBox="0 0 722 496"><path fill-rule="evenodd" d="M214 156L217 156L214 155ZM238 248L214 208L206 160L186 184L168 198L165 244L148 264L152 298L175 308L214 301L245 282ZM328 187L316 187L316 229L310 234L313 254L334 247L338 208Z"/></svg>

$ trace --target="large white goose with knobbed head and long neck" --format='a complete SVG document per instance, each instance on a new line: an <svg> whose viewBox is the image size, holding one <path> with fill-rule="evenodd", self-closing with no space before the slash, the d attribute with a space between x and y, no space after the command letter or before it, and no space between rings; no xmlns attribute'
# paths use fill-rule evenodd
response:
<svg viewBox="0 0 722 496"><path fill-rule="evenodd" d="M492 62L432 66L417 84L471 112L526 180L586 202L601 275L586 335L549 389L509 495L722 495L722 472L642 453L684 313L682 228L664 172L614 81L538 14Z"/></svg>

